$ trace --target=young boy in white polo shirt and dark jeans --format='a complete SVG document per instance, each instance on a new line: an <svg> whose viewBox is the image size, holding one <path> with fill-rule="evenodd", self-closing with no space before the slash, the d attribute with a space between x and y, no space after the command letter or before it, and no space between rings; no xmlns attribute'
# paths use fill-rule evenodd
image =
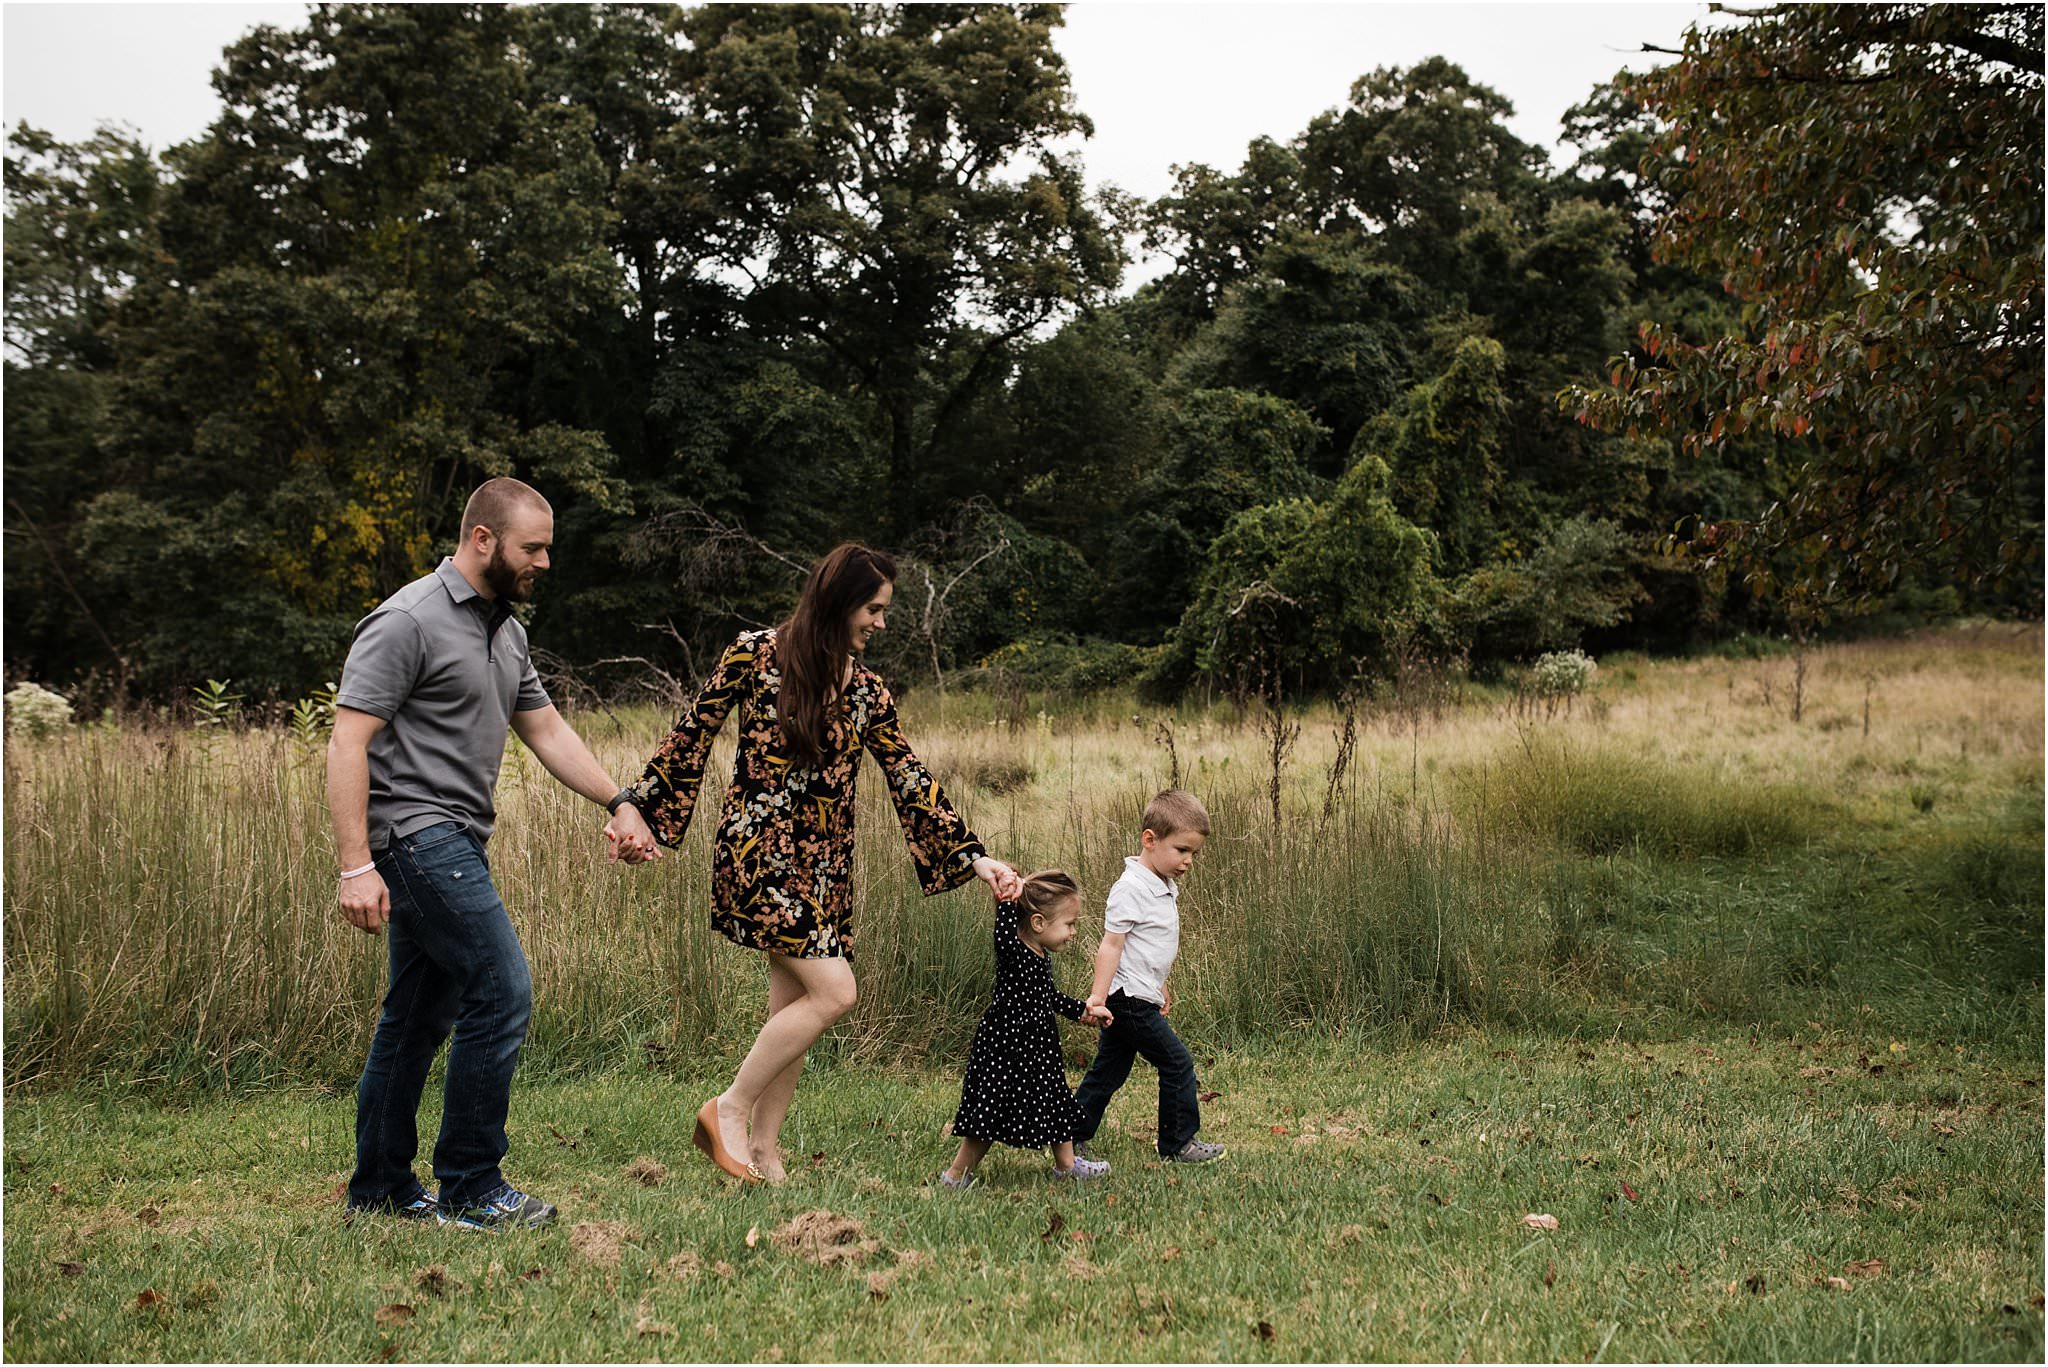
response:
<svg viewBox="0 0 2048 1367"><path fill-rule="evenodd" d="M1096 1062L1073 1094L1079 1111L1073 1152L1083 1158L1094 1158L1087 1140L1102 1127L1102 1113L1130 1076L1137 1055L1159 1070L1159 1156L1167 1162L1223 1158L1221 1144L1194 1137L1202 1127L1194 1055L1165 1023L1174 1008L1165 976L1180 953L1178 879L1194 865L1206 838L1208 812L1194 793L1178 787L1159 793L1145 807L1141 853L1124 859L1124 875L1110 887L1087 1004L1108 1006L1116 1023L1102 1031Z"/></svg>

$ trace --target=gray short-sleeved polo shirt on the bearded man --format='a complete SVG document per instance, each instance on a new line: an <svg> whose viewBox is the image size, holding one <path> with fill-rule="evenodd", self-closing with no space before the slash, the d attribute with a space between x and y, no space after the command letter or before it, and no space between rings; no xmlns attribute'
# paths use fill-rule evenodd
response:
<svg viewBox="0 0 2048 1367"><path fill-rule="evenodd" d="M453 557L356 623L334 701L389 723L371 738L373 851L446 820L489 838L512 713L549 705L526 627Z"/></svg>

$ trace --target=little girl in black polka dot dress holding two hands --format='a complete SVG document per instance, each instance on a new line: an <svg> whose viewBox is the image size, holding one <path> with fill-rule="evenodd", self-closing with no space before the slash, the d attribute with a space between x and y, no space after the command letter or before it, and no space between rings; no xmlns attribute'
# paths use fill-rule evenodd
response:
<svg viewBox="0 0 2048 1367"><path fill-rule="evenodd" d="M1108 1025L1108 1008L1090 1006L1053 986L1049 955L1073 939L1081 889L1059 869L1024 879L1016 902L995 904L995 1000L975 1027L952 1133L961 1152L938 1174L942 1187L973 1187L975 1164L1001 1142L1053 1150L1053 1176L1106 1176L1110 1164L1073 1154L1073 1090L1059 1053L1053 1012L1083 1025Z"/></svg>

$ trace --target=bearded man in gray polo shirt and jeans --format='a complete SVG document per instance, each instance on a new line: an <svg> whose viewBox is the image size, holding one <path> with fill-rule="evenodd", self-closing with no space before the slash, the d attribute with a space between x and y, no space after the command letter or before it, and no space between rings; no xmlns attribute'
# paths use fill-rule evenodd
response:
<svg viewBox="0 0 2048 1367"><path fill-rule="evenodd" d="M555 1217L498 1168L532 1010L526 955L483 853L506 728L555 779L610 807L612 859L641 863L657 851L639 810L549 703L512 617L547 570L553 537L541 494L489 480L469 496L455 555L365 617L342 668L328 742L340 906L371 935L389 926L391 945L391 988L356 1088L350 1211L465 1230ZM436 1199L412 1160L426 1072L451 1029Z"/></svg>

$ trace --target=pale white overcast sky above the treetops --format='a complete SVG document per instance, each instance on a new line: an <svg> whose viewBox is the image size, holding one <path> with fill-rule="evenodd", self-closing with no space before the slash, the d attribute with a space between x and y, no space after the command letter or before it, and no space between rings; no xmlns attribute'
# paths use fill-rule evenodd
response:
<svg viewBox="0 0 2048 1367"><path fill-rule="evenodd" d="M262 23L289 27L303 4L4 4L0 107L6 127L63 141L102 121L164 148L213 121L209 74L221 49ZM1075 102L1096 121L1083 148L1092 184L1153 199L1171 166L1237 170L1245 143L1288 139L1341 105L1356 78L1430 55L1505 94L1509 127L1554 148L1559 119L1595 82L1642 70L1642 43L1677 47L1704 4L1190 4L1083 0L1057 43ZM1552 154L1567 162L1569 156ZM1149 271L1139 273L1149 275Z"/></svg>

